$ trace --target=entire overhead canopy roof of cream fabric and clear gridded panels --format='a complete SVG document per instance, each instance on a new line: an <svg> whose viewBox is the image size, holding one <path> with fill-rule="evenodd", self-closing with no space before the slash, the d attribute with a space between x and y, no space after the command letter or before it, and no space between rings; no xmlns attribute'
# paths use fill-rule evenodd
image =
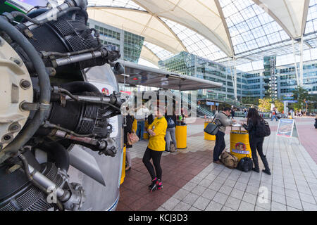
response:
<svg viewBox="0 0 317 225"><path fill-rule="evenodd" d="M277 46L285 46L281 43L299 39L311 31L316 33L317 29L316 0L88 2L89 18L139 34L147 43L156 46L156 50L159 47L171 55L188 51L219 62L232 56L241 58L240 63L250 62L248 54L262 53L262 49L275 49L279 54ZM306 22L313 25L307 27ZM309 38L307 44L314 48L315 43L311 45L311 42ZM286 45L290 46L290 42ZM150 56L153 54L162 59L149 46L142 51L141 57L157 64L157 58Z"/></svg>

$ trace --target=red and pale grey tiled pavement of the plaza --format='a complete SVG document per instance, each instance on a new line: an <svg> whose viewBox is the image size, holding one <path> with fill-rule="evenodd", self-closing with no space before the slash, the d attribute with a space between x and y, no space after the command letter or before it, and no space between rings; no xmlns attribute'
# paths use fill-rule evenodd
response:
<svg viewBox="0 0 317 225"><path fill-rule="evenodd" d="M120 187L116 210L317 210L317 166L311 156L317 152L316 130L311 130L314 136L301 135L309 123L313 127L313 119L297 119L300 145L296 138L276 136L278 123L270 122L272 133L263 145L272 172L268 176L212 163L214 141L204 140L204 123L197 120L187 127L186 150L163 153L163 189L153 193L142 163L147 141L139 141L131 149L132 169ZM225 140L228 148L229 135ZM311 147L309 153L304 146Z"/></svg>

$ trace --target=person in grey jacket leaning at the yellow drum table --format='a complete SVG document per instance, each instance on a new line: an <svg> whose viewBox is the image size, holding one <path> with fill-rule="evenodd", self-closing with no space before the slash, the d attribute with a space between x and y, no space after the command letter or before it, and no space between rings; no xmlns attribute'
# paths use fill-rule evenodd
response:
<svg viewBox="0 0 317 225"><path fill-rule="evenodd" d="M213 148L213 162L221 164L219 156L225 150L225 127L231 126L231 124L237 122L236 120L228 121L230 116L230 108L225 107L223 111L218 113L215 117L215 123L219 125L218 133L216 134L216 144Z"/></svg>

